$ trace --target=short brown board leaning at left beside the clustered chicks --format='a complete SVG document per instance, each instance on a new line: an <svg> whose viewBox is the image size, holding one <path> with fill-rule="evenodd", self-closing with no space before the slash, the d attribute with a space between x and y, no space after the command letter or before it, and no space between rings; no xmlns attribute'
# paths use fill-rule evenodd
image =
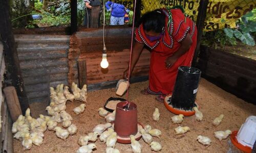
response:
<svg viewBox="0 0 256 153"><path fill-rule="evenodd" d="M8 109L12 117L12 121L14 122L17 120L18 116L22 114L22 110L20 109L16 90L13 86L5 87L4 93L5 93Z"/></svg>

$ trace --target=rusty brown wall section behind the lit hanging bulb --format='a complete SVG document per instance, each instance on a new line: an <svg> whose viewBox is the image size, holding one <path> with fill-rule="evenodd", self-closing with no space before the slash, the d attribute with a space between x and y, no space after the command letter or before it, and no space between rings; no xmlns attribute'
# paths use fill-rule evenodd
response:
<svg viewBox="0 0 256 153"><path fill-rule="evenodd" d="M78 83L77 60L79 58L86 60L87 83L92 90L94 84L112 83L122 79L123 71L129 64L131 33L131 28L106 30L105 45L110 64L108 69L100 67L103 49L102 30L78 32L73 35L69 52L69 83ZM150 52L143 50L132 77L147 76L149 64Z"/></svg>

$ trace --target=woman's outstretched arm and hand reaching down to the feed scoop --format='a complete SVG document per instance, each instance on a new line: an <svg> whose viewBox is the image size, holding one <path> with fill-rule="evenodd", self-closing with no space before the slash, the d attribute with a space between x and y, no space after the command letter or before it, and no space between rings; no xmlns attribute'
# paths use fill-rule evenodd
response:
<svg viewBox="0 0 256 153"><path fill-rule="evenodd" d="M132 59L131 59L131 73L133 72L133 69L137 63L137 61L139 60L139 57L142 53L142 49L144 47L144 44L135 42L134 46L133 46L133 53L132 53ZM129 73L129 67L123 72L123 78L126 79L128 77L128 73Z"/></svg>

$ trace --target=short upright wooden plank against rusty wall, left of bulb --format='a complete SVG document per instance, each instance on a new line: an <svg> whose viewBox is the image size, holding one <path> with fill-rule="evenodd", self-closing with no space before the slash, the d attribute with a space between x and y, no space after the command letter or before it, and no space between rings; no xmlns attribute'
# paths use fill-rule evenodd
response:
<svg viewBox="0 0 256 153"><path fill-rule="evenodd" d="M78 59L78 80L80 88L82 88L84 84L87 84L87 67L85 58Z"/></svg>

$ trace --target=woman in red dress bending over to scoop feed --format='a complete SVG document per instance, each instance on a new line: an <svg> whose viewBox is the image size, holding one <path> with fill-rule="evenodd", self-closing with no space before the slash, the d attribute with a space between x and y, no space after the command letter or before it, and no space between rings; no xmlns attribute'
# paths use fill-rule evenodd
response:
<svg viewBox="0 0 256 153"><path fill-rule="evenodd" d="M196 24L181 9L158 9L144 14L135 31L131 73L143 47L151 50L149 86L142 94L172 94L179 66L191 66L197 45ZM127 77L126 69L124 78Z"/></svg>

